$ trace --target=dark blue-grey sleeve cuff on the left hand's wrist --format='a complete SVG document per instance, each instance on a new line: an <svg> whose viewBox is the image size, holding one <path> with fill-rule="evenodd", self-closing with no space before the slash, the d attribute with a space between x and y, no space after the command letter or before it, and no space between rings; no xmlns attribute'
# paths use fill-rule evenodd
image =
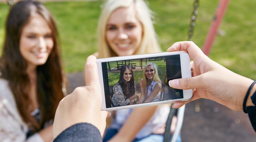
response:
<svg viewBox="0 0 256 142"><path fill-rule="evenodd" d="M92 124L77 123L60 133L53 142L102 142L102 137Z"/></svg>

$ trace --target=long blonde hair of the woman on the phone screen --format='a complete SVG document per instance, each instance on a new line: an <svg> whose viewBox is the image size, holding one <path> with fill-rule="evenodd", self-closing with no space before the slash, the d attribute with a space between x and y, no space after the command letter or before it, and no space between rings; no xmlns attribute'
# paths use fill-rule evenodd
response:
<svg viewBox="0 0 256 142"><path fill-rule="evenodd" d="M146 65L144 66L144 69L143 69L143 84L142 84L143 92L145 93L145 95L147 95L146 88L150 85L148 83L148 78L145 75L145 71L146 71L148 66L153 66L153 68L154 68L155 73L154 73L154 76L153 76L153 80L154 81L159 81L160 84L161 84L161 80L160 80L159 75L158 75L158 66L155 63L152 63L152 62L146 63ZM161 85L161 87L162 87L162 85Z"/></svg>

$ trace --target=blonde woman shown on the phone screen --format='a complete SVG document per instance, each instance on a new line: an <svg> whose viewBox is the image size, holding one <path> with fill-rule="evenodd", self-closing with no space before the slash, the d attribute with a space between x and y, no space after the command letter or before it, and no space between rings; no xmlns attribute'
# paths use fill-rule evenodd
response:
<svg viewBox="0 0 256 142"><path fill-rule="evenodd" d="M157 65L148 62L143 69L143 79L140 80L141 95L138 104L159 101L161 86Z"/></svg>

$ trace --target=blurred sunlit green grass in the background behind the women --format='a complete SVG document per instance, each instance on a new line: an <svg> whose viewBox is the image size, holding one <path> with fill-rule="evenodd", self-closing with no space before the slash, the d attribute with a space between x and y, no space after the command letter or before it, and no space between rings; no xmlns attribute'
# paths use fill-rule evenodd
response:
<svg viewBox="0 0 256 142"><path fill-rule="evenodd" d="M66 72L82 71L86 57L97 51L97 20L103 1L47 2L55 16L62 45ZM191 0L149 0L155 12L154 27L163 51L174 42L188 39ZM218 1L200 0L193 42L202 47L213 19ZM256 1L230 1L220 29L226 35L217 35L209 57L224 67L256 80ZM3 43L4 21L8 12L0 4L0 44Z"/></svg>

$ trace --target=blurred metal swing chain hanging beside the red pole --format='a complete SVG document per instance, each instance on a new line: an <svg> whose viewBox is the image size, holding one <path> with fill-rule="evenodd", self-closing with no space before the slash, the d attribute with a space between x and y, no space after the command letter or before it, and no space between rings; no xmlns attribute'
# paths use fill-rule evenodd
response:
<svg viewBox="0 0 256 142"><path fill-rule="evenodd" d="M192 41L192 36L194 34L194 26L195 26L195 20L196 20L196 17L198 15L198 7L199 7L199 0L195 0L194 3L193 3L193 11L191 13L191 21L190 21L190 27L189 27L189 31L188 31L188 35L189 35L189 38L188 40L189 41Z"/></svg>

